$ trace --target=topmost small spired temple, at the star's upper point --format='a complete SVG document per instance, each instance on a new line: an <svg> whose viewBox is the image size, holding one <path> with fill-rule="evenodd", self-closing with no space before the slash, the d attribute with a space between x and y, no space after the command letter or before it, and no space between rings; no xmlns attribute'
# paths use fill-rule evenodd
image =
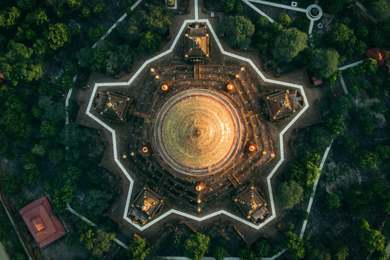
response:
<svg viewBox="0 0 390 260"><path fill-rule="evenodd" d="M206 25L194 22L189 25L184 35L184 57L186 61L209 61L210 37Z"/></svg>

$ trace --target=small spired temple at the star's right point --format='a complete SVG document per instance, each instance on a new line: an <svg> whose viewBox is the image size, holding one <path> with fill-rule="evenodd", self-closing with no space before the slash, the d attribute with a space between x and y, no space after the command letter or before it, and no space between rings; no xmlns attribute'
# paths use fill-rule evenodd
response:
<svg viewBox="0 0 390 260"><path fill-rule="evenodd" d="M290 93L289 90L276 90L267 94L264 102L271 121L289 117L304 104L299 91Z"/></svg>

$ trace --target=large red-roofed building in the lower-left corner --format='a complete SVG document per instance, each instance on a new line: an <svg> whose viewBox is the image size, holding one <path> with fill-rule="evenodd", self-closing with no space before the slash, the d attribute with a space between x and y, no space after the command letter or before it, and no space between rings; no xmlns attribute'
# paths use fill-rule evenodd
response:
<svg viewBox="0 0 390 260"><path fill-rule="evenodd" d="M64 228L54 217L52 206L45 196L21 208L19 213L39 248L65 235Z"/></svg>

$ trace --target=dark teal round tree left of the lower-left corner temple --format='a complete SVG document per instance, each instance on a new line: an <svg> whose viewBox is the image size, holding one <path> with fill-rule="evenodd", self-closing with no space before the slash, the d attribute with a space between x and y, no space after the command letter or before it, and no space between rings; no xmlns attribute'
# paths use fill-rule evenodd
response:
<svg viewBox="0 0 390 260"><path fill-rule="evenodd" d="M93 216L102 215L110 206L108 203L111 199L110 194L100 190L90 190L85 198L87 209Z"/></svg>

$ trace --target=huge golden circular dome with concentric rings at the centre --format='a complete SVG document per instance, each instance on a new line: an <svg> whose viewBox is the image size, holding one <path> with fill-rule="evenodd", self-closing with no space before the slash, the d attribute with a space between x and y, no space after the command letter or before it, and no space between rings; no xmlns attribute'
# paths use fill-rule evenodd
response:
<svg viewBox="0 0 390 260"><path fill-rule="evenodd" d="M167 100L156 115L155 146L175 172L204 177L226 168L241 142L241 121L224 95L189 89Z"/></svg>

